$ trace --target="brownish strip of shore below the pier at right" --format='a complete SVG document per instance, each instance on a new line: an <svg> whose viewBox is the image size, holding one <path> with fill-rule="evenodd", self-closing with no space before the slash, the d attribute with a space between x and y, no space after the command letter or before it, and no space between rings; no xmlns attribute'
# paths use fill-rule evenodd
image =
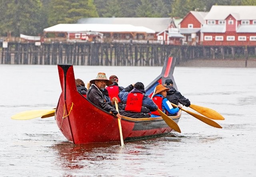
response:
<svg viewBox="0 0 256 177"><path fill-rule="evenodd" d="M177 61L180 67L248 67L256 68L256 59L193 59L188 61Z"/></svg>

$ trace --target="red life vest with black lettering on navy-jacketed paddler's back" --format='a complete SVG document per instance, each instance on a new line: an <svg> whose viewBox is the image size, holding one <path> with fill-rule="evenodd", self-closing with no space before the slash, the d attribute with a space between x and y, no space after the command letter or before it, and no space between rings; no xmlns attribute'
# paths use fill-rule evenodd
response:
<svg viewBox="0 0 256 177"><path fill-rule="evenodd" d="M141 112L143 97L144 95L142 93L128 93L124 110Z"/></svg>

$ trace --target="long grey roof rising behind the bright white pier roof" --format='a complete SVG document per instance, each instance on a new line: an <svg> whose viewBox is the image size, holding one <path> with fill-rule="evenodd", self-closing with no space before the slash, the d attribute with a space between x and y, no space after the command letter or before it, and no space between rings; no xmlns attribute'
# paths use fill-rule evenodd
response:
<svg viewBox="0 0 256 177"><path fill-rule="evenodd" d="M165 30L172 23L172 18L82 18L78 24L130 24L144 26L156 32Z"/></svg>

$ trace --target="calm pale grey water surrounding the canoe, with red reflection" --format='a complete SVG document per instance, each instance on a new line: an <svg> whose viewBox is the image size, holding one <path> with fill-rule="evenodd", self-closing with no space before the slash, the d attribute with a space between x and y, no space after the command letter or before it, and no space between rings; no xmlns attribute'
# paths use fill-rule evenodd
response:
<svg viewBox="0 0 256 177"><path fill-rule="evenodd" d="M118 75L119 85L148 85L161 67L74 66L85 83L98 72ZM0 176L256 176L256 69L176 67L179 91L192 104L226 120L213 128L186 114L181 134L120 144L73 145L54 117L11 120L24 110L55 108L60 95L56 66L0 65ZM190 110L189 108L186 108Z"/></svg>

